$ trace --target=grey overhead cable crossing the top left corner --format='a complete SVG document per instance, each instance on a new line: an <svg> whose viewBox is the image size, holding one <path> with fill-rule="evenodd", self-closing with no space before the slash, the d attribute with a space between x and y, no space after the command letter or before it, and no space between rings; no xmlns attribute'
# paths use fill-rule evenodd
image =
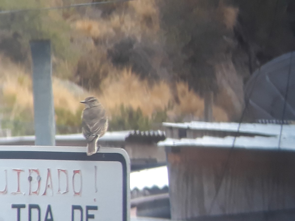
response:
<svg viewBox="0 0 295 221"><path fill-rule="evenodd" d="M0 11L0 14L11 14L11 13L29 12L29 11L49 11L49 10L57 10L57 9L69 9L69 8L81 7L81 6L94 6L94 5L101 5L101 4L122 3L122 2L127 2L127 1L135 1L135 0L112 0L112 1L99 1L99 2L89 2L89 3L81 3L81 4L71 4L71 5L64 5L64 6L43 7L43 8L3 10L3 11Z"/></svg>

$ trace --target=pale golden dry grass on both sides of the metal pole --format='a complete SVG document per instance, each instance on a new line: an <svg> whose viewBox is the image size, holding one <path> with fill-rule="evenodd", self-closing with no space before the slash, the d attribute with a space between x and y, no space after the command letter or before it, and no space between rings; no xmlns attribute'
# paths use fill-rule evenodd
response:
<svg viewBox="0 0 295 221"><path fill-rule="evenodd" d="M23 110L30 110L33 116L33 92L32 79L30 73L26 72L21 66L0 58L1 77L0 82L3 85L1 100L2 105L12 106L10 119ZM79 99L84 99L89 94L79 91L75 93L65 88L65 84L57 78L53 78L53 95L55 108L67 108L72 113L81 109Z"/></svg>

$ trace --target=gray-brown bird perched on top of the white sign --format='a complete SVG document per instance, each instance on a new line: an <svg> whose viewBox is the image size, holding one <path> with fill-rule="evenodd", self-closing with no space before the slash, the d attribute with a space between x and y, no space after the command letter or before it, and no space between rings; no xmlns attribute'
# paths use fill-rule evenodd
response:
<svg viewBox="0 0 295 221"><path fill-rule="evenodd" d="M108 128L108 118L104 107L93 97L80 101L85 104L82 112L82 133L87 141L87 156L95 154L99 146L97 140L104 135Z"/></svg>

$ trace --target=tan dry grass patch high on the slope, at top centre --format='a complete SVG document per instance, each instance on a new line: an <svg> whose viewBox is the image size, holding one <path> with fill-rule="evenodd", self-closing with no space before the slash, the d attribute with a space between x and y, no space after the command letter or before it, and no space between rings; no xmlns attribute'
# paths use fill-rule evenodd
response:
<svg viewBox="0 0 295 221"><path fill-rule="evenodd" d="M155 38L155 33L160 30L159 12L155 1L130 1L127 4L125 10L118 9L107 19L79 19L73 22L72 27L105 43L127 36L138 40L146 36Z"/></svg>

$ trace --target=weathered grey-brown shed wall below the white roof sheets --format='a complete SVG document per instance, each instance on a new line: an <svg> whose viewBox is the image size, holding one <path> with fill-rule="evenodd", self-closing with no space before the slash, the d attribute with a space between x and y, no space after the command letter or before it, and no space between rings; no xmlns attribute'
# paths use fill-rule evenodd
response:
<svg viewBox="0 0 295 221"><path fill-rule="evenodd" d="M228 154L220 149L167 151L172 220L295 207L295 153L236 149L210 210Z"/></svg>

